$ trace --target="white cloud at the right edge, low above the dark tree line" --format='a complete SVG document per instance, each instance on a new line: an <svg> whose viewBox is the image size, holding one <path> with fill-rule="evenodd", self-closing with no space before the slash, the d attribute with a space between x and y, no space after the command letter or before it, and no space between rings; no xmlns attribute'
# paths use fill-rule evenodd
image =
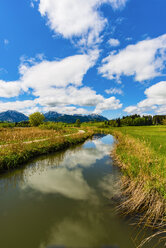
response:
<svg viewBox="0 0 166 248"><path fill-rule="evenodd" d="M146 99L136 106L129 106L125 111L129 114L145 113L166 114L166 81L159 82L145 90Z"/></svg>

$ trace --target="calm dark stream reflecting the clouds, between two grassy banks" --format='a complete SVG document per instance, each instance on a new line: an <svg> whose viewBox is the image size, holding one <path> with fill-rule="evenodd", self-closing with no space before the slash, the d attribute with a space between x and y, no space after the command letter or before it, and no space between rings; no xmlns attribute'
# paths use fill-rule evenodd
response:
<svg viewBox="0 0 166 248"><path fill-rule="evenodd" d="M2 175L0 247L134 248L150 235L118 215L110 200L120 178L109 156L113 142L98 136Z"/></svg>

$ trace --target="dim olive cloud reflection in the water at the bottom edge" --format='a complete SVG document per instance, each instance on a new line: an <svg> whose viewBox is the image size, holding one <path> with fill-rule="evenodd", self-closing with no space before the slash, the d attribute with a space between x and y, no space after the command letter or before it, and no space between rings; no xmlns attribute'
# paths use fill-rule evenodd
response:
<svg viewBox="0 0 166 248"><path fill-rule="evenodd" d="M108 231L110 228L109 223L105 223L103 217L101 214L96 215L91 212L89 216L82 214L82 216L77 216L76 219L66 218L49 231L48 239L41 242L39 247L45 248L55 244L64 245L65 247L92 248L98 247L99 244L101 245L100 247L116 245L118 236L116 227L111 230L112 233ZM106 227L108 230L106 230ZM103 230L105 231L103 232ZM130 241L128 243L131 244Z"/></svg>

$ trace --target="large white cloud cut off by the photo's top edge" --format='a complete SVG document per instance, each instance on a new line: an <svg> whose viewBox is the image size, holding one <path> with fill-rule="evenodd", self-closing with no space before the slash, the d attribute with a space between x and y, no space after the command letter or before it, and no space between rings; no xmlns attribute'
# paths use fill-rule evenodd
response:
<svg viewBox="0 0 166 248"><path fill-rule="evenodd" d="M86 37L86 43L99 39L107 20L99 12L100 5L111 4L114 9L124 7L127 0L40 0L39 11L48 18L55 33L65 38Z"/></svg>

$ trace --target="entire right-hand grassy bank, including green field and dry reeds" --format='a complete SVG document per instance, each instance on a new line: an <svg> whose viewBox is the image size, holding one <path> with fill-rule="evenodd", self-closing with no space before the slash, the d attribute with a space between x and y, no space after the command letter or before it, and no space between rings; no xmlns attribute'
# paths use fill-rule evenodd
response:
<svg viewBox="0 0 166 248"><path fill-rule="evenodd" d="M122 208L142 212L141 221L163 228L166 221L166 127L111 130L118 143L113 155L124 172Z"/></svg>

